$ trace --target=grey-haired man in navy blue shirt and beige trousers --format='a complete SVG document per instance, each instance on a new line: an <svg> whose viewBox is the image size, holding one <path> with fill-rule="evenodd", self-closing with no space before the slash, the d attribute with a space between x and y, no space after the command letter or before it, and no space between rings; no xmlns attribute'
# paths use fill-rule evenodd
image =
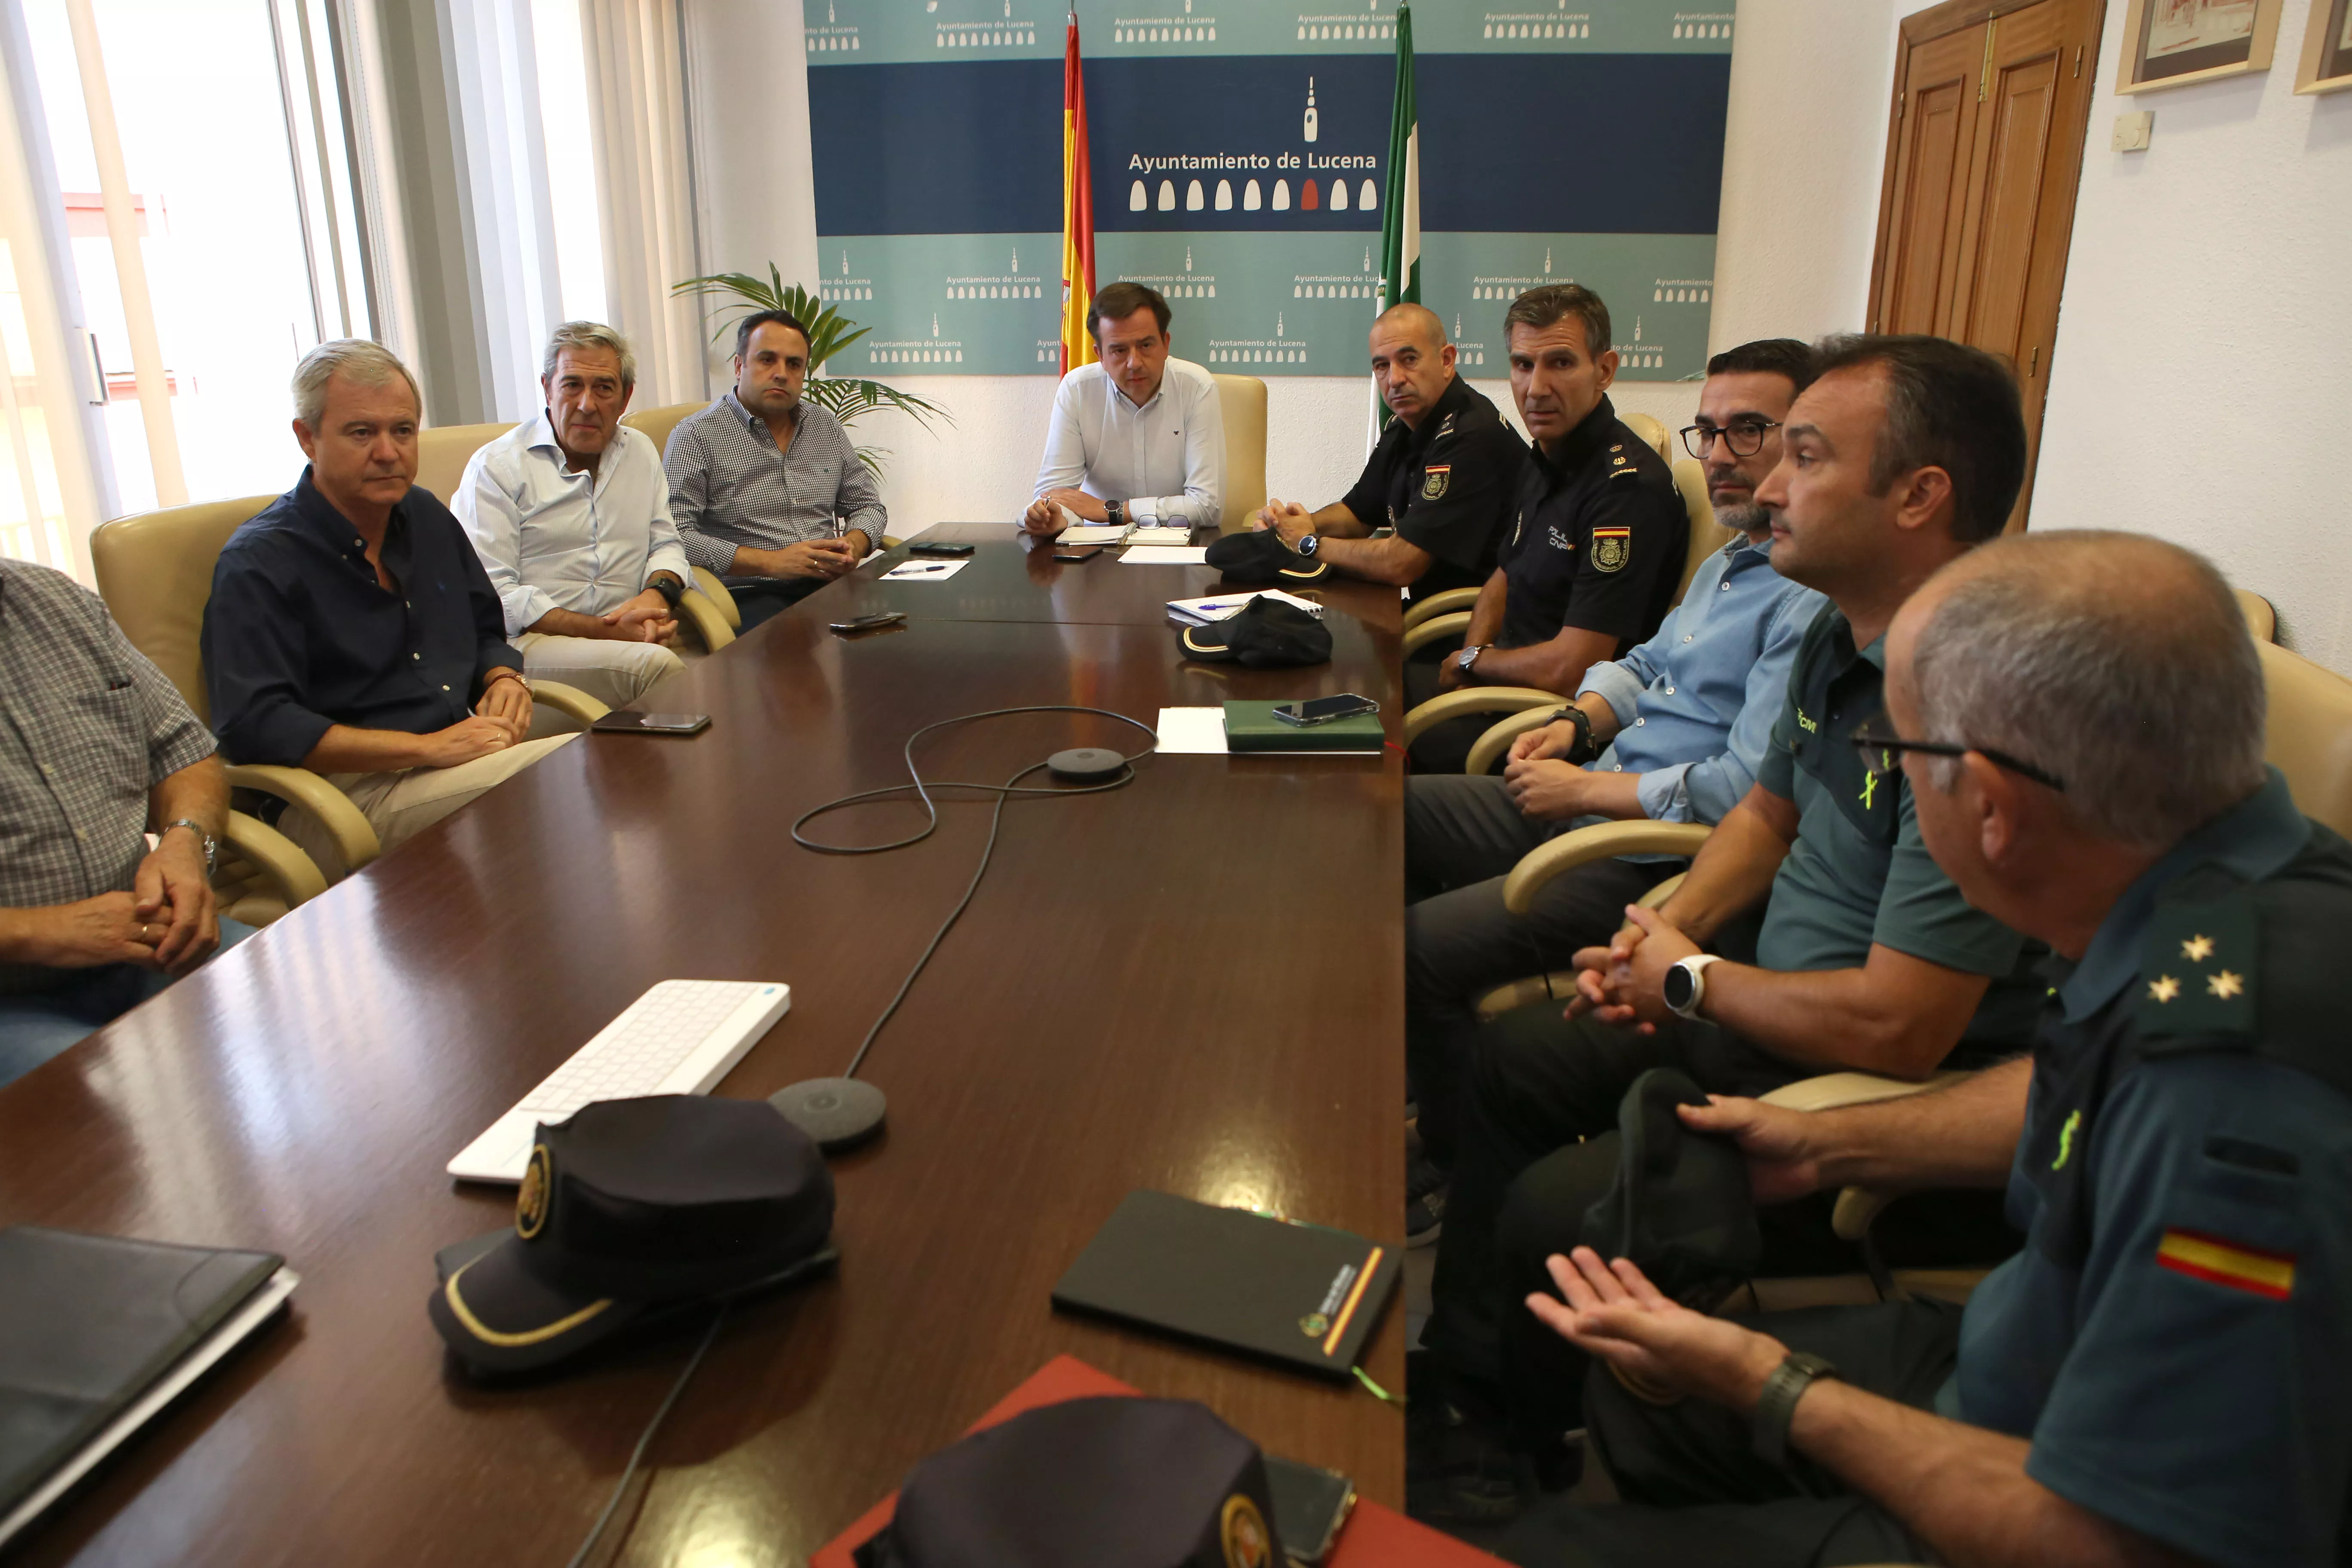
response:
<svg viewBox="0 0 2352 1568"><path fill-rule="evenodd" d="M532 689L466 529L416 480L416 381L360 339L294 371L310 468L212 571L205 684L230 762L325 773L383 849L572 736L527 741ZM280 827L346 870L301 809Z"/></svg>

